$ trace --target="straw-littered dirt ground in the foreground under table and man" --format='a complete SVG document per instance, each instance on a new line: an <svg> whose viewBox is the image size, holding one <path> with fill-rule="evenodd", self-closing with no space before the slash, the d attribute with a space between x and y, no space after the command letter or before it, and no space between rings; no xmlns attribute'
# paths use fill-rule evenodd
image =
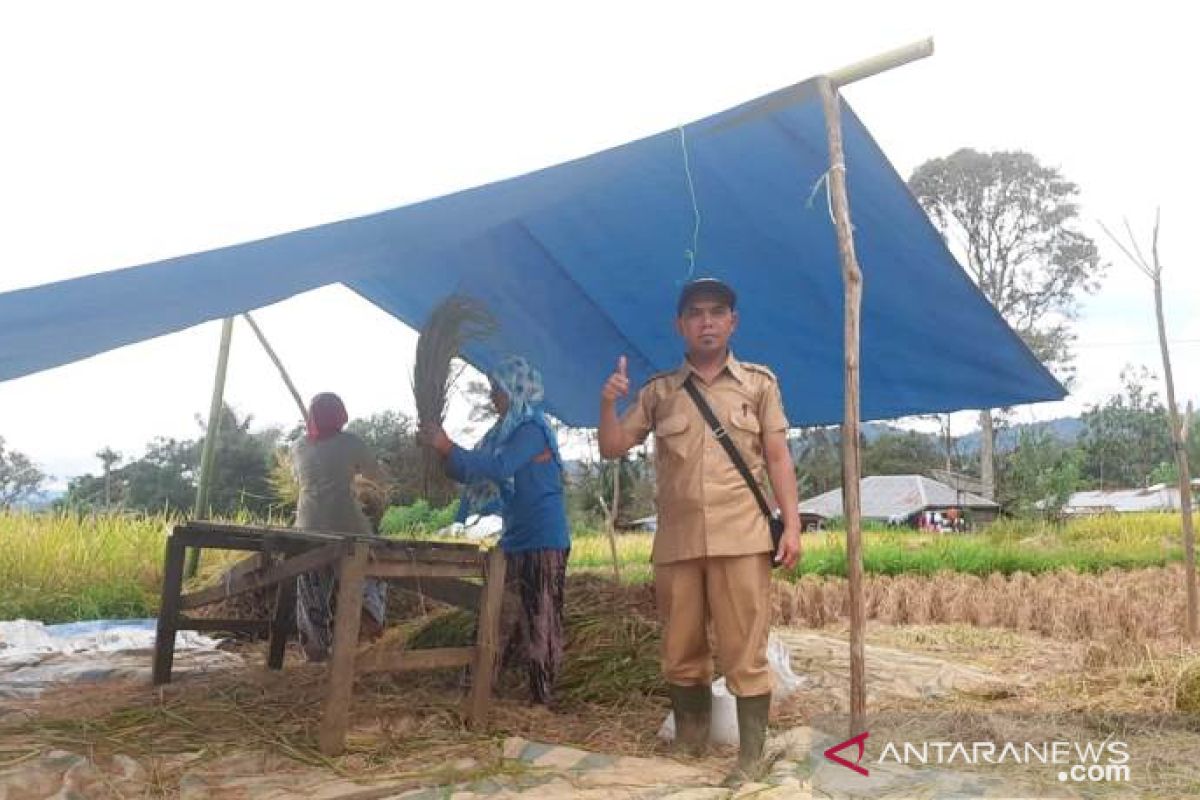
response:
<svg viewBox="0 0 1200 800"><path fill-rule="evenodd" d="M1177 640L1066 642L966 625L882 625L868 634L863 777L823 757L847 738L844 627L776 628L799 690L773 709L779 760L761 786L714 788L731 748L668 756L660 698L620 708L530 709L499 691L488 732L462 727L461 675L361 680L344 756L313 747L323 670L289 657L264 670L260 645L181 656L178 680L148 686L149 654L127 670L0 700L0 800L169 796L1200 796L1200 721L1175 710L1195 655ZM202 662L203 661L203 662ZM140 670L140 672L139 672ZM1126 780L1062 781L1054 764L895 764L887 742L1121 741ZM853 760L853 750L846 753Z"/></svg>

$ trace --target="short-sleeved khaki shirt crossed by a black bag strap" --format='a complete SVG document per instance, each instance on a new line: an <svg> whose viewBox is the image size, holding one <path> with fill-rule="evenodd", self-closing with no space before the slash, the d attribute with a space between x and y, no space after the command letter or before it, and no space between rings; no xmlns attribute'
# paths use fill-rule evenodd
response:
<svg viewBox="0 0 1200 800"><path fill-rule="evenodd" d="M683 387L692 372L684 361L674 372L650 378L620 421L638 443L654 432L654 563L769 552L770 530L754 493ZM698 374L694 383L766 487L763 437L787 431L779 380L767 367L730 355L713 383Z"/></svg>

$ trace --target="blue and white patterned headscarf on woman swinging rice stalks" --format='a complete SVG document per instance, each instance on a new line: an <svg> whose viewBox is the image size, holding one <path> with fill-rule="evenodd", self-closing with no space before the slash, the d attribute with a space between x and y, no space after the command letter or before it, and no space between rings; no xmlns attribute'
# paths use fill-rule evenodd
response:
<svg viewBox="0 0 1200 800"><path fill-rule="evenodd" d="M488 378L492 379L497 389L508 396L509 410L484 434L484 438L475 445L475 450L492 455L498 453L517 428L526 422L533 422L545 431L546 441L550 443L550 452L554 457L554 463L562 469L563 458L558 453L558 440L541 410L541 402L545 397L541 373L521 356L512 355L500 361ZM458 518L462 521L472 515L503 515L512 500L512 493L511 479L499 486L492 481L469 483L463 489L460 500Z"/></svg>

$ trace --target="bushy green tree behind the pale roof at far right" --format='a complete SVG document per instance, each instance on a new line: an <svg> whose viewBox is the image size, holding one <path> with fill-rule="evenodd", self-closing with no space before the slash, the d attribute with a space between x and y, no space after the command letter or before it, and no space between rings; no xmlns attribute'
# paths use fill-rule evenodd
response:
<svg viewBox="0 0 1200 800"><path fill-rule="evenodd" d="M1146 367L1127 366L1122 390L1084 411L1084 476L1093 486L1147 486L1156 468L1172 459L1166 409L1146 389L1153 379Z"/></svg>

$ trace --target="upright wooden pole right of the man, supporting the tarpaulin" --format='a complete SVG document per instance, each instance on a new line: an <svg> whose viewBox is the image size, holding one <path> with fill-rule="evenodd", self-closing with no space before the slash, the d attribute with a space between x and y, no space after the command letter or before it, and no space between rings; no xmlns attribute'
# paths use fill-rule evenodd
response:
<svg viewBox="0 0 1200 800"><path fill-rule="evenodd" d="M838 254L845 285L844 326L844 419L841 423L841 491L846 516L846 563L850 577L850 727L863 729L866 716L866 663L863 633L866 626L863 603L863 522L859 497L859 313L863 305L863 272L854 254L850 199L846 194L846 162L841 146L841 100L833 82L818 79L829 137L829 193L833 200Z"/></svg>

